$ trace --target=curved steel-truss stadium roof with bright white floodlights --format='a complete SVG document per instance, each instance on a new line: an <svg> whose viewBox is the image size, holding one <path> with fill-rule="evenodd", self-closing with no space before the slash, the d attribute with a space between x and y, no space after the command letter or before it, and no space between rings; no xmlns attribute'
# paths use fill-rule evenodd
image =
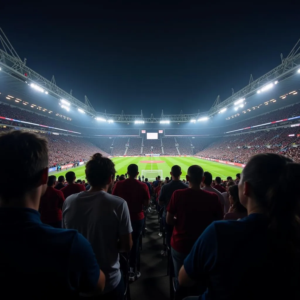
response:
<svg viewBox="0 0 300 300"><path fill-rule="evenodd" d="M282 91L284 94L290 89L298 87L300 78L299 39L286 58L283 58L281 55L282 64L256 80L253 80L251 76L247 86L233 93L233 95L226 100L221 102L218 96L208 112L197 112L193 114L183 114L180 112L178 115L165 115L162 111L159 118L153 115L145 117L142 111L140 115L127 115L123 111L121 114L116 115L106 112L96 112L86 96L83 103L71 95L71 93L59 88L55 83L54 76L52 76L52 80L49 81L29 68L26 65L26 58L23 61L21 60L1 28L0 41L3 48L0 49L0 80L3 86L10 88L10 90L14 91L20 97L22 97L22 95L32 97L32 95L29 95L31 94L29 93L30 86L33 90L40 93L38 97L39 101L49 105L49 98L47 99L46 97L52 96L58 100L57 104L59 104L62 109L67 111L69 111L70 108L78 110L78 113L85 113L87 116L91 116L100 122L135 122L138 124L160 122L166 124L170 122L205 121L218 113L225 113L225 111L231 107L238 108L243 101L255 102L256 97L270 93L272 90L277 90L277 92ZM225 118L226 116L224 116L224 119Z"/></svg>

